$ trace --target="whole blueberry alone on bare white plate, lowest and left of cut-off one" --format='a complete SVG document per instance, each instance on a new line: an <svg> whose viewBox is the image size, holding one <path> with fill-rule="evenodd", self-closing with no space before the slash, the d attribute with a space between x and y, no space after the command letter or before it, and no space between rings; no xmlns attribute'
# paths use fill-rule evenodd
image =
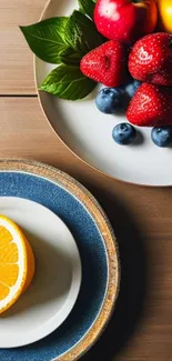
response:
<svg viewBox="0 0 172 361"><path fill-rule="evenodd" d="M135 129L129 123L121 123L113 128L112 137L118 144L127 146L133 143Z"/></svg>

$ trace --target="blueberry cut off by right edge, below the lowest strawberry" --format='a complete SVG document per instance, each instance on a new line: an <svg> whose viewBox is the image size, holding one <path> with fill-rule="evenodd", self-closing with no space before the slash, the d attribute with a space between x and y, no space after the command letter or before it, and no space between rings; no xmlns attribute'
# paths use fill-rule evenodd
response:
<svg viewBox="0 0 172 361"><path fill-rule="evenodd" d="M158 147L172 144L172 127L155 127L152 129L151 138Z"/></svg>

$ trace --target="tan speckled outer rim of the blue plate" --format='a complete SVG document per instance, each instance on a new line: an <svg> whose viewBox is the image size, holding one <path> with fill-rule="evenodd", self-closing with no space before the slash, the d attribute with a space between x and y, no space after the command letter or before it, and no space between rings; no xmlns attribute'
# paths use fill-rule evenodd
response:
<svg viewBox="0 0 172 361"><path fill-rule="evenodd" d="M99 337L104 331L115 307L120 289L120 257L117 239L110 221L102 210L95 198L75 179L68 176L61 170L58 170L45 163L24 159L1 159L0 172L24 172L36 177L44 178L63 187L73 197L75 197L88 210L94 220L98 230L103 237L107 258L108 258L108 282L107 293L102 302L102 307L94 322L88 332L62 355L53 359L53 361L77 361L97 342Z"/></svg>

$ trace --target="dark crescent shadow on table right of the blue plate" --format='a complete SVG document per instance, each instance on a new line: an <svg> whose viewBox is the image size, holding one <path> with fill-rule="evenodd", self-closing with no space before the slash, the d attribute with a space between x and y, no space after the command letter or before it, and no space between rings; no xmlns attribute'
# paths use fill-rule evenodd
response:
<svg viewBox="0 0 172 361"><path fill-rule="evenodd" d="M130 213L117 199L85 184L103 207L118 238L121 259L121 285L112 319L81 361L111 361L123 349L138 325L145 300L146 254L142 235Z"/></svg>

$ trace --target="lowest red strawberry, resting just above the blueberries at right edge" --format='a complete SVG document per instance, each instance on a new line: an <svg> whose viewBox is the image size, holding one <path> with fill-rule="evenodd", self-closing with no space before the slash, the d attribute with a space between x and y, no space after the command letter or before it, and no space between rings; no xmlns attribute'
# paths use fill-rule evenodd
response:
<svg viewBox="0 0 172 361"><path fill-rule="evenodd" d="M139 127L172 124L172 89L144 82L131 100L127 118Z"/></svg>

